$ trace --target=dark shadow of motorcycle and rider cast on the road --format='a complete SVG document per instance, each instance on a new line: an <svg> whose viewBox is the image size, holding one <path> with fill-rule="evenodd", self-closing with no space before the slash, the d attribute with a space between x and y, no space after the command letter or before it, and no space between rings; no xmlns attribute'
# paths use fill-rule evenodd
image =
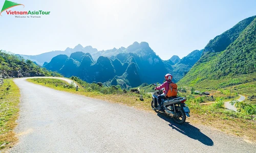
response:
<svg viewBox="0 0 256 153"><path fill-rule="evenodd" d="M156 112L159 117L169 122L170 123L169 126L177 130L178 132L188 136L189 138L198 140L205 145L208 145L208 146L214 145L214 142L205 134L203 134L200 131L200 129L198 129L197 127L189 124L188 122L184 122L183 124L178 124L173 119L169 118L166 114L159 111L156 111Z"/></svg>

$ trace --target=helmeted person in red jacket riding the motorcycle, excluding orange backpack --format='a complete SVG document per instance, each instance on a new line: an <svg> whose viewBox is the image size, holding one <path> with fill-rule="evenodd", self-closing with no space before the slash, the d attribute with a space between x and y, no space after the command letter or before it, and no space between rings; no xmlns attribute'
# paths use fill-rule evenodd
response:
<svg viewBox="0 0 256 153"><path fill-rule="evenodd" d="M173 79L172 74L168 73L164 76L164 78L165 78L165 82L161 86L158 86L158 87L155 88L155 90L159 90L159 89L164 88L163 93L157 96L157 101L158 101L158 105L159 105L158 108L157 108L158 110L162 109L161 99L166 97L166 94L169 90L169 84L173 83L172 82L172 79Z"/></svg>

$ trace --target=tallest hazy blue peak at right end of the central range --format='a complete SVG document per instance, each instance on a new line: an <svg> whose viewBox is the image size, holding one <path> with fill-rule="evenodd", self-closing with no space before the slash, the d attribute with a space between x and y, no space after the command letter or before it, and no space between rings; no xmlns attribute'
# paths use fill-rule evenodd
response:
<svg viewBox="0 0 256 153"><path fill-rule="evenodd" d="M124 51L126 53L118 54L115 58L122 63L131 64L133 62L139 73L137 77L139 77L139 80L142 83L145 82L151 84L155 82L163 82L164 75L168 73L168 70L165 67L164 62L155 54L148 43L134 42ZM172 67L170 67L169 70L172 70Z"/></svg>

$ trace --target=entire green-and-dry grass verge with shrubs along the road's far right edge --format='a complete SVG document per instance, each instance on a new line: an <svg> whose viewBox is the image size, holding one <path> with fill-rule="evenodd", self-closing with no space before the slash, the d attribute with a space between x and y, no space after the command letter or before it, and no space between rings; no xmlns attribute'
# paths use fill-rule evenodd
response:
<svg viewBox="0 0 256 153"><path fill-rule="evenodd" d="M151 109L151 95L144 94L144 101L139 100L139 94L127 92L123 94L103 94L100 92L90 91L88 92L84 88L79 88L75 91L75 88L64 87L67 84L64 81L56 87L56 79L28 79L29 82L47 86L56 90L67 91L74 94L84 95L92 98L102 99L110 101L111 103L124 104L136 109L154 112ZM190 97L190 98L189 98ZM190 109L191 117L187 118L187 122L195 124L204 124L209 127L215 127L215 129L228 133L231 135L236 135L244 138L249 142L256 143L256 122L246 118L246 114L241 114L240 112L229 111L223 108L223 101L217 104L212 104L208 106L200 106L200 101L204 98L193 97L187 95L187 103ZM250 116L248 116L249 118Z"/></svg>

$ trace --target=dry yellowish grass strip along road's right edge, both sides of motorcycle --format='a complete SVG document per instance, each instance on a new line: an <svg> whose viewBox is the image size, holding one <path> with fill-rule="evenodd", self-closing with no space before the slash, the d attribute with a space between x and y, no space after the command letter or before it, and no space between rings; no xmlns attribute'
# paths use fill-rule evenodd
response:
<svg viewBox="0 0 256 153"><path fill-rule="evenodd" d="M29 82L40 84L34 82L33 79L29 79ZM151 97L144 97L144 101L139 100L138 94L125 93L125 94L102 94L98 92L85 92L84 89L80 88L79 91L75 89L67 89L63 87L56 87L51 84L40 85L47 86L56 90L67 91L74 94L84 95L96 99L101 99L109 101L111 103L124 104L136 109L154 112L151 109ZM218 92L217 92L218 93ZM256 143L256 122L248 119L227 117L225 114L200 114L196 110L190 110L191 117L187 118L187 122L194 124L204 124L209 127L214 127L215 129L244 138L247 142Z"/></svg>

